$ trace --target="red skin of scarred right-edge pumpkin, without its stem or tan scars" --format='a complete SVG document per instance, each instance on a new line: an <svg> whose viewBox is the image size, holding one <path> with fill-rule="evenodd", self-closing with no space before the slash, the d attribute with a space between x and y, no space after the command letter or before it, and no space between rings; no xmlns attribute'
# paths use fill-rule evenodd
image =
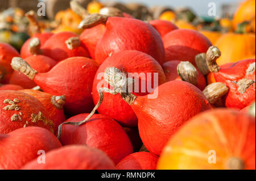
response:
<svg viewBox="0 0 256 181"><path fill-rule="evenodd" d="M217 82L225 83L225 85L229 87L228 94L224 96L224 103L226 107L241 110L255 101L255 70L253 74L246 75L247 68L254 62L255 59L242 60L233 64L229 68L223 68L220 69L218 73L214 73L214 78ZM254 81L254 83L250 85L243 94L237 90L238 86L234 83L238 82L242 78L252 79Z"/></svg>

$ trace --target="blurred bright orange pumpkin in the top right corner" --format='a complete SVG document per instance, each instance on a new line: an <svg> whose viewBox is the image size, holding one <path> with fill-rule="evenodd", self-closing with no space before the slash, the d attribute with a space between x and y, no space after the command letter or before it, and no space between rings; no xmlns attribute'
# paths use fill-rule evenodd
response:
<svg viewBox="0 0 256 181"><path fill-rule="evenodd" d="M238 7L233 17L233 28L237 30L237 25L242 22L255 22L255 0L247 0Z"/></svg>

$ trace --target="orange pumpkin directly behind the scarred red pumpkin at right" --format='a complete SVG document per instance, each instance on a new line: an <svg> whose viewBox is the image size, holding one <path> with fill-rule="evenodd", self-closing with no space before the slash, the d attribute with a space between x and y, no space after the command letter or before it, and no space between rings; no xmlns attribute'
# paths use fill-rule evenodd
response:
<svg viewBox="0 0 256 181"><path fill-rule="evenodd" d="M217 59L218 65L237 62L255 55L255 34L226 33L215 45L221 51L221 57Z"/></svg>

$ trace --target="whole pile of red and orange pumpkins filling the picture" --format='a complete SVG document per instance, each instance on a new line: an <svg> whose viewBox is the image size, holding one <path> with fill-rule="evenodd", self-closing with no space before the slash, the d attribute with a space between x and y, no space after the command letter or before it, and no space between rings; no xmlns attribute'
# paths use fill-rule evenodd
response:
<svg viewBox="0 0 256 181"><path fill-rule="evenodd" d="M0 169L254 170L254 7L23 13L30 37L0 43Z"/></svg>

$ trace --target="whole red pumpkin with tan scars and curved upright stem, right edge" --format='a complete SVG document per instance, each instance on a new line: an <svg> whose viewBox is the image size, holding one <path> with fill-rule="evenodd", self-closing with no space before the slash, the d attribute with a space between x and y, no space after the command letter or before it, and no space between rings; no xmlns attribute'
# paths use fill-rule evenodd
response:
<svg viewBox="0 0 256 181"><path fill-rule="evenodd" d="M242 109L255 101L255 59L247 59L233 64L229 68L220 68L216 60L221 52L217 47L210 47L207 51L207 64L214 73L217 82L229 87L228 94L224 97L225 106L228 108Z"/></svg>

